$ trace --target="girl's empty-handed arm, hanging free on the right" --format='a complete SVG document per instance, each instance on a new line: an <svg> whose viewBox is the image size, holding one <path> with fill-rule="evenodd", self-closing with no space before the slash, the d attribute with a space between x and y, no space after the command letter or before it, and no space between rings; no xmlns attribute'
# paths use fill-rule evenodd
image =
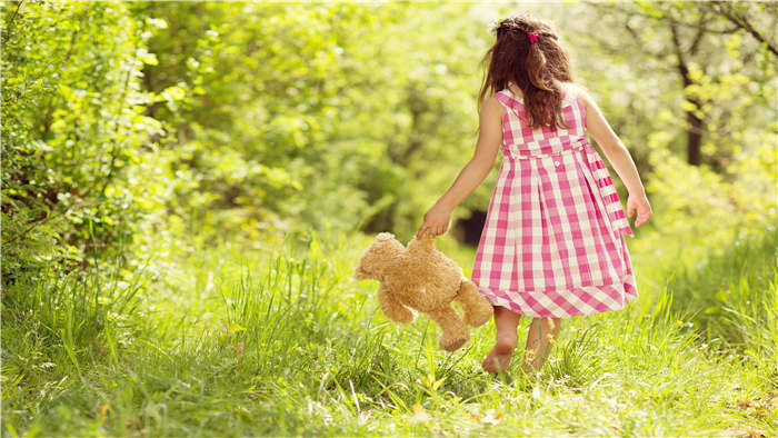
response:
<svg viewBox="0 0 778 438"><path fill-rule="evenodd" d="M638 217L635 219L635 227L640 227L651 217L651 206L648 203L646 190L640 181L638 169L629 155L629 150L624 146L621 139L614 132L610 125L605 119L595 100L586 90L579 88L580 97L586 104L586 129L600 146L602 152L610 161L614 169L624 181L629 193L627 198L627 217L631 217L635 210Z"/></svg>

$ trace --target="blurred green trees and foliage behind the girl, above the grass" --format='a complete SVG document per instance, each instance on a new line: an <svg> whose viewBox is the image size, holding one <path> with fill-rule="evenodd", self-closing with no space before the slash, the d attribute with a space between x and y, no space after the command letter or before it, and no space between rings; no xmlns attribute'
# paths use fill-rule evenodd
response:
<svg viewBox="0 0 778 438"><path fill-rule="evenodd" d="M471 157L488 23L516 8L3 2L6 282L137 267L181 236L409 238ZM774 221L770 3L522 10L556 24L638 165L655 216L632 245ZM458 240L477 243L496 173L455 211L476 218Z"/></svg>

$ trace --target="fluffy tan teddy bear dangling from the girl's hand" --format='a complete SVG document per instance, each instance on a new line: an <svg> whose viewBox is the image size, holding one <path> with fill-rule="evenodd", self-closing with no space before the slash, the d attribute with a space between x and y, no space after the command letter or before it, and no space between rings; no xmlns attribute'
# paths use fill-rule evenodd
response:
<svg viewBox="0 0 778 438"><path fill-rule="evenodd" d="M390 232L380 232L359 258L356 279L377 279L378 303L387 318L412 322L410 309L427 313L443 329L438 346L453 351L470 339L465 323L482 326L491 318L489 300L478 287L462 276L462 269L435 249L435 238L425 235L408 242L408 248ZM451 307L465 310L463 321Z"/></svg>

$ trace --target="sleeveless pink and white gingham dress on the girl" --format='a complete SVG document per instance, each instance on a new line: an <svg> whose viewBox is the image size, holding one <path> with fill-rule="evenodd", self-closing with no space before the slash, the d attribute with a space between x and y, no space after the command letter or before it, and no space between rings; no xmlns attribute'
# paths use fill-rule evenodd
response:
<svg viewBox="0 0 778 438"><path fill-rule="evenodd" d="M635 237L605 162L586 137L586 107L568 83L569 129L531 129L521 98L496 93L502 163L472 281L495 306L560 318L624 308L638 296L622 235Z"/></svg>

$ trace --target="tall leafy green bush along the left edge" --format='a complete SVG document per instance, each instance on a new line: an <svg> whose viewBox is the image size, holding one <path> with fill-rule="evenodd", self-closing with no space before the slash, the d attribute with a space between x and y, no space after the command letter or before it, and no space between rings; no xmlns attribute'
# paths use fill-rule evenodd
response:
<svg viewBox="0 0 778 438"><path fill-rule="evenodd" d="M144 22L122 3L3 2L2 269L86 265L132 239L127 170L159 123L141 115Z"/></svg>

